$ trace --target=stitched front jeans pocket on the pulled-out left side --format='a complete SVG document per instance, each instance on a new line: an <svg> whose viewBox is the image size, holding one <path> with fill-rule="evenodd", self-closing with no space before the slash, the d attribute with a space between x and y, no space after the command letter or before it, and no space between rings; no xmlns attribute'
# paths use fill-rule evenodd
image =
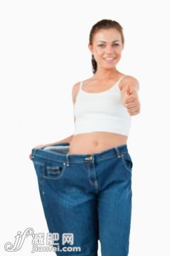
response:
<svg viewBox="0 0 170 256"><path fill-rule="evenodd" d="M43 178L60 179L65 172L65 162L49 162L43 166Z"/></svg>

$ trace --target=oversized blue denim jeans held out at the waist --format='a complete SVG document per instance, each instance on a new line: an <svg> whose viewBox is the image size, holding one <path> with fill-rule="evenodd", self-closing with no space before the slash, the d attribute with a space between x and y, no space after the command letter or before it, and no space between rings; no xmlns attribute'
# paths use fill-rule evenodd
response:
<svg viewBox="0 0 170 256"><path fill-rule="evenodd" d="M68 154L70 143L32 149L49 232L73 234L80 252L57 255L127 256L132 213L132 158L127 144L95 154ZM70 245L69 245L70 246ZM53 252L55 253L55 252Z"/></svg>

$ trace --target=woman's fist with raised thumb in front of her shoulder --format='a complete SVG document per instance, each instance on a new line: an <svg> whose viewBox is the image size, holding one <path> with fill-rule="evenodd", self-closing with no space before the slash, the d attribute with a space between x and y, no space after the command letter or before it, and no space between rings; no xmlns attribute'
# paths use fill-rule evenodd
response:
<svg viewBox="0 0 170 256"><path fill-rule="evenodd" d="M139 114L140 102L137 92L130 83L127 83L122 92L122 104L127 108L131 116Z"/></svg>

